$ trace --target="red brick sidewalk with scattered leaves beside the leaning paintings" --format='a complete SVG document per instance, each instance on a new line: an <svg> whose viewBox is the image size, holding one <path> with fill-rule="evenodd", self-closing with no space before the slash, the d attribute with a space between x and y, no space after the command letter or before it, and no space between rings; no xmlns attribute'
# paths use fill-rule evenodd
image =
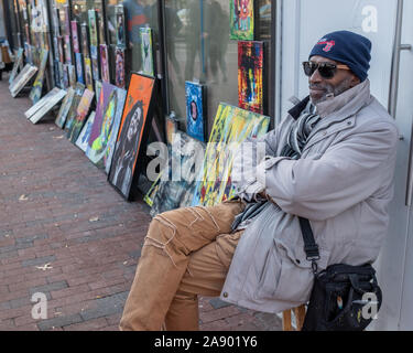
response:
<svg viewBox="0 0 413 353"><path fill-rule="evenodd" d="M126 202L28 94L0 82L0 330L118 330L151 216ZM47 319L33 319L35 292ZM202 298L202 330L281 330L281 320Z"/></svg>

